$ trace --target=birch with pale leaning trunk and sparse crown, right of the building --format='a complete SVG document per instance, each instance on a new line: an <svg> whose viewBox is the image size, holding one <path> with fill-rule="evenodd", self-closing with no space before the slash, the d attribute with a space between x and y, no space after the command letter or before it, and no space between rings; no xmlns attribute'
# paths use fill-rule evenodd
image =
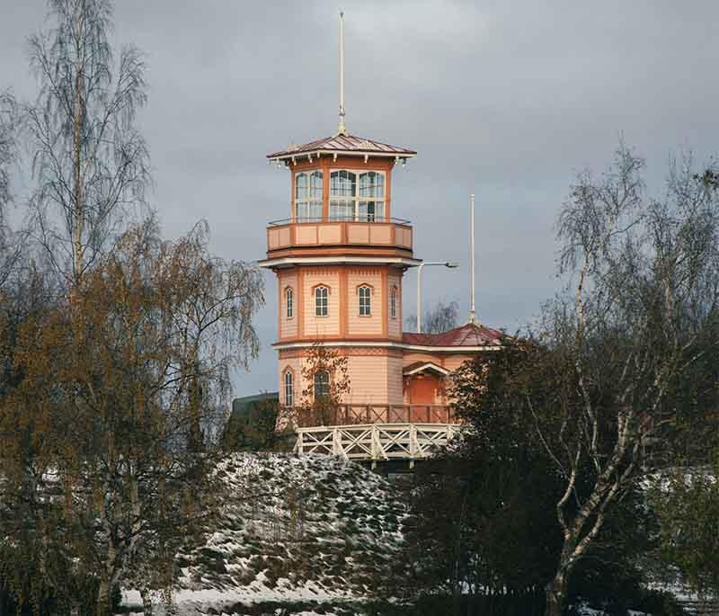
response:
<svg viewBox="0 0 719 616"><path fill-rule="evenodd" d="M545 310L552 387L525 393L565 481L548 616L560 616L577 562L660 457L679 412L672 392L707 343L719 343L719 201L690 157L672 162L660 199L647 196L643 168L622 145L608 173L579 175L558 219L561 272L571 282Z"/></svg>

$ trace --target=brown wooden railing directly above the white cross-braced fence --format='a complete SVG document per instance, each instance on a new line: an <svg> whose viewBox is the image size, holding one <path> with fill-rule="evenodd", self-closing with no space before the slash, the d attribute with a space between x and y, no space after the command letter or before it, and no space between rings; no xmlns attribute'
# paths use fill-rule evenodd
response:
<svg viewBox="0 0 719 616"><path fill-rule="evenodd" d="M353 424L457 424L448 405L356 405L287 409L299 427Z"/></svg>

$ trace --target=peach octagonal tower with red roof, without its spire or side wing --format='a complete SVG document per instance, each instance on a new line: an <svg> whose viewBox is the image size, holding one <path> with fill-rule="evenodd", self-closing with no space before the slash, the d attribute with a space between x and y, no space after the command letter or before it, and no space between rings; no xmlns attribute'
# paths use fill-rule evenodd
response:
<svg viewBox="0 0 719 616"><path fill-rule="evenodd" d="M277 273L280 403L297 403L306 350L348 357L351 405L403 403L402 278L420 263L409 221L393 217L392 172L413 150L338 134L269 157L288 165L288 219L267 228Z"/></svg>

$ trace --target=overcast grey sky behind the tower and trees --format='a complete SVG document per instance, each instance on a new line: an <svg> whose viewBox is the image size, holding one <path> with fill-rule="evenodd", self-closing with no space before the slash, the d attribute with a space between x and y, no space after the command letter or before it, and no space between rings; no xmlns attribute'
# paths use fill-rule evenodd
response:
<svg viewBox="0 0 719 616"><path fill-rule="evenodd" d="M288 216L289 177L264 156L336 129L337 13L345 10L351 133L413 147L393 213L412 219L427 305L468 309L468 195L477 200L477 310L510 331L558 287L553 223L573 175L608 164L620 134L661 190L670 152L719 149L719 2L241 2L118 0L114 38L143 49L164 234L200 218L213 249L254 261ZM43 0L0 0L0 90L33 96L26 37ZM413 312L414 272L404 285ZM275 390L277 286L262 352L235 394Z"/></svg>

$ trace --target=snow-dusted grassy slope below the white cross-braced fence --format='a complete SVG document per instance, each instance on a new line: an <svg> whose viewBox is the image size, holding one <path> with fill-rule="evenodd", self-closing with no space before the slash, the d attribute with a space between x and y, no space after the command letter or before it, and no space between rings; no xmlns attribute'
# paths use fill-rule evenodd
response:
<svg viewBox="0 0 719 616"><path fill-rule="evenodd" d="M383 478L351 462L291 454L235 454L218 472L231 496L214 532L178 556L172 612L349 608L377 596L392 575L404 505ZM139 603L135 593L126 601Z"/></svg>

